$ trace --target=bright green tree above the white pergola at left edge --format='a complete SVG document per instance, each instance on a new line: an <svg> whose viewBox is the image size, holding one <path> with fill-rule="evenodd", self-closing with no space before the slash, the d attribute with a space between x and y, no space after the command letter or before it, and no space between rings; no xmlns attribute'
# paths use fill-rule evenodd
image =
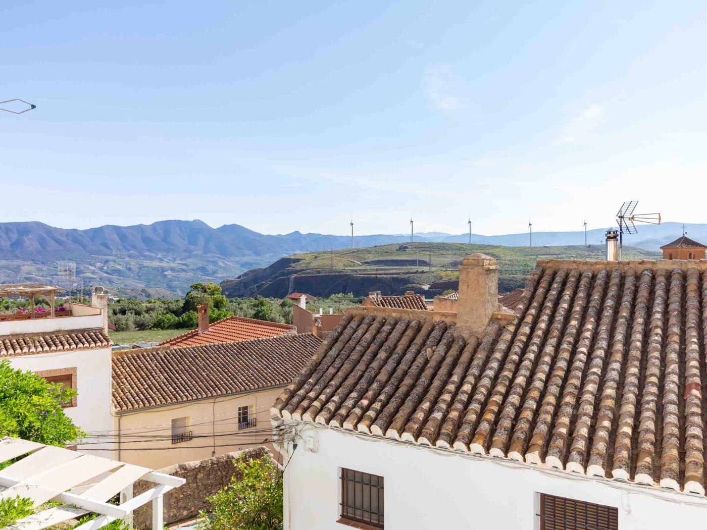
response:
<svg viewBox="0 0 707 530"><path fill-rule="evenodd" d="M64 414L62 403L76 390L47 382L33 372L14 370L0 362L0 436L64 447L86 433Z"/></svg>

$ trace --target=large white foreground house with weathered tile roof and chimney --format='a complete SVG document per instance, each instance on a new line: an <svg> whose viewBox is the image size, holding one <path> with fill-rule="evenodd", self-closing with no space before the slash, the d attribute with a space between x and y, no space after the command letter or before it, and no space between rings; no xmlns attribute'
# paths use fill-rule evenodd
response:
<svg viewBox="0 0 707 530"><path fill-rule="evenodd" d="M346 311L271 410L287 530L699 526L707 262L539 261L513 314Z"/></svg>

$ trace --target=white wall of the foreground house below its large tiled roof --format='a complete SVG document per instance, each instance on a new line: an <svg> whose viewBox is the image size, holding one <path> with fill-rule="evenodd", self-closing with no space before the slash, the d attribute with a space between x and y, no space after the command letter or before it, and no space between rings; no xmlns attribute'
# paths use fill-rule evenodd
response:
<svg viewBox="0 0 707 530"><path fill-rule="evenodd" d="M343 530L341 467L384 478L385 529L539 529L539 493L617 507L619 530L698 527L707 498L310 423L285 471L286 530ZM695 526L697 525L697 526Z"/></svg>

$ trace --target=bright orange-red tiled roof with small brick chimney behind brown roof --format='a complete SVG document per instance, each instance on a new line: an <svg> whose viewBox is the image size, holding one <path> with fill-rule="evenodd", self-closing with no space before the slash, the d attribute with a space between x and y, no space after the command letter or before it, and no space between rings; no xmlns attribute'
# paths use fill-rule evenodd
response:
<svg viewBox="0 0 707 530"><path fill-rule="evenodd" d="M218 342L247 341L252 338L266 338L294 333L297 328L290 324L278 324L266 320L247 319L245 317L226 317L209 325L209 329L199 334L197 329L177 335L160 346L195 346Z"/></svg>

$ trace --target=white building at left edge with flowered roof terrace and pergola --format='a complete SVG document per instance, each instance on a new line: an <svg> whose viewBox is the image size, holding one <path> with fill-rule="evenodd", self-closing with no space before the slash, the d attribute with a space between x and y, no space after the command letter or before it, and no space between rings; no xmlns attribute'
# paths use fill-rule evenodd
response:
<svg viewBox="0 0 707 530"><path fill-rule="evenodd" d="M0 293L51 298L47 285L0 285ZM63 311L0 315L0 359L51 382L76 389L64 412L93 434L112 432L111 346L107 335L107 295L95 293L91 305L69 303ZM88 439L85 440L88 442ZM100 457L112 457L112 444L78 444ZM96 450L101 449L101 450Z"/></svg>

